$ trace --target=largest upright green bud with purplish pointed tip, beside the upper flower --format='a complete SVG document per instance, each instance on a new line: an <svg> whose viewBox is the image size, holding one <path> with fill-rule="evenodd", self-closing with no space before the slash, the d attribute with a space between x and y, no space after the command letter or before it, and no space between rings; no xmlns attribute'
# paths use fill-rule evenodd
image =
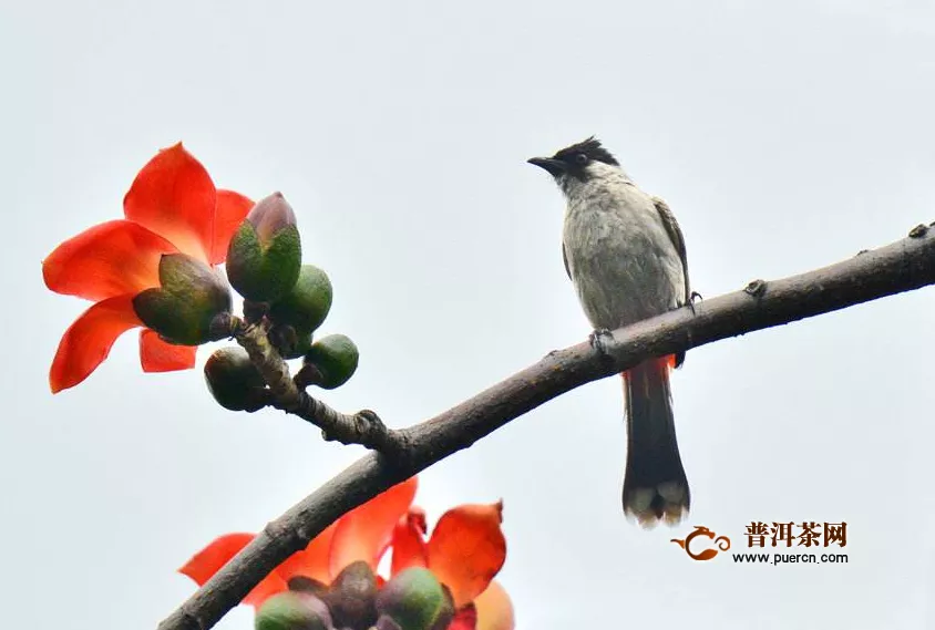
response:
<svg viewBox="0 0 935 630"><path fill-rule="evenodd" d="M260 199L230 239L227 276L248 300L271 302L295 286L301 268L296 215L281 193Z"/></svg>

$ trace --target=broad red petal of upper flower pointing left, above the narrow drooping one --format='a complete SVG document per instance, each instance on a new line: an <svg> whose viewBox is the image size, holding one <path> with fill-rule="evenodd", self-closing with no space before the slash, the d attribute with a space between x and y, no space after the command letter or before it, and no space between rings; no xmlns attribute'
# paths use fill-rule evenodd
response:
<svg viewBox="0 0 935 630"><path fill-rule="evenodd" d="M175 246L145 227L114 220L68 239L42 261L56 293L103 300L160 286L160 257Z"/></svg>

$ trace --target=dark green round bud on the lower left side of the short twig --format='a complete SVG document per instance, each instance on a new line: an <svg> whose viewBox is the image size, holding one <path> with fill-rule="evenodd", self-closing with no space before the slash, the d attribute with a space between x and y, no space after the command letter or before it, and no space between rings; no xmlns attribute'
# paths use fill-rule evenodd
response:
<svg viewBox="0 0 935 630"><path fill-rule="evenodd" d="M225 409L254 412L266 405L266 383L240 347L215 350L205 363L205 381Z"/></svg>

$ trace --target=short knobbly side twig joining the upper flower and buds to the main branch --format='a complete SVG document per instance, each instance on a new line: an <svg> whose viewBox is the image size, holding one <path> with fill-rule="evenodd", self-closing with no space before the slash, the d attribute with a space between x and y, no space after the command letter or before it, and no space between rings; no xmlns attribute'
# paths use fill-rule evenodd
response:
<svg viewBox="0 0 935 630"><path fill-rule="evenodd" d="M398 431L387 428L372 411L362 410L352 415L341 413L301 390L289 375L288 363L269 342L264 324L245 324L233 319L230 332L250 355L254 365L269 385L271 406L318 426L325 440L362 444L393 457L404 452L404 436Z"/></svg>

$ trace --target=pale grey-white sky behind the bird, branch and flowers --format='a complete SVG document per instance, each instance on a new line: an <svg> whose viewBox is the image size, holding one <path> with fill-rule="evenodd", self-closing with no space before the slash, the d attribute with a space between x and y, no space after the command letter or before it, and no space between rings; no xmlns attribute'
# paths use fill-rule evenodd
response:
<svg viewBox="0 0 935 630"><path fill-rule="evenodd" d="M85 383L47 374L84 308L42 285L178 140L218 186L282 190L362 352L323 396L393 426L582 341L563 200L526 165L597 134L666 198L706 297L935 219L935 11L904 2L151 3L0 9L4 626L154 628L175 569L360 456L233 414L199 371L144 375L129 334ZM503 497L522 629L914 629L933 622L935 291L728 340L675 376L684 527L625 521L617 379L422 475L420 503ZM202 351L202 361L207 357ZM691 562L707 525L849 524L850 564ZM219 626L246 629L240 608Z"/></svg>

